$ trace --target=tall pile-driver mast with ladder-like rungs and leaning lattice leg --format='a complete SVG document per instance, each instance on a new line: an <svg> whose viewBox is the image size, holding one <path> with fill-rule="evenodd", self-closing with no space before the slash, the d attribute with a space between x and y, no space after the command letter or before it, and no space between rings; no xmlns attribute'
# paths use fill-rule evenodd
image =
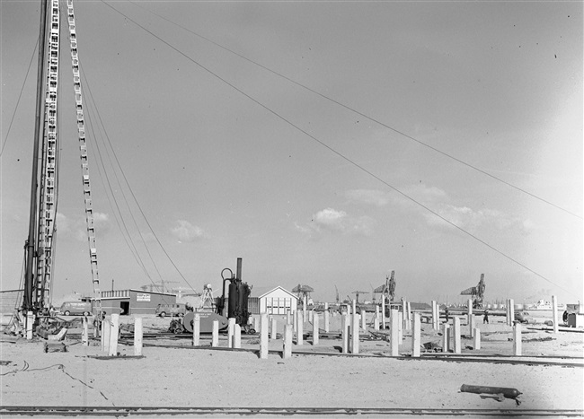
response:
<svg viewBox="0 0 584 419"><path fill-rule="evenodd" d="M93 204L89 181L81 77L79 74L75 14L72 0L66 1L66 7L93 293L95 301L101 310ZM59 44L59 0L50 0L50 3L48 0L41 0L37 110L31 179L31 214L29 236L25 246L26 267L22 302L22 308L26 311L42 310L47 308L51 301L53 239L56 228L58 199Z"/></svg>

